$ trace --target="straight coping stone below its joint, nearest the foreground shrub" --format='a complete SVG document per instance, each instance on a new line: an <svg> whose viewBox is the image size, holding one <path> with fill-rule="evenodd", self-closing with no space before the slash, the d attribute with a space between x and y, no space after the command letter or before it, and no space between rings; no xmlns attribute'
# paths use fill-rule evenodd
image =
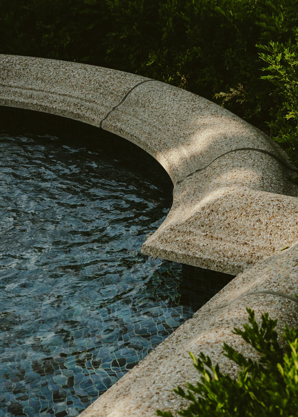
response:
<svg viewBox="0 0 298 417"><path fill-rule="evenodd" d="M298 289L298 283L295 286ZM232 287L230 291L232 293ZM189 351L194 355L200 352L209 355L222 372L235 377L239 369L222 355L223 342L251 359L258 359L251 347L232 333L234 327L242 329L247 322L247 307L255 311L259 323L261 314L266 312L271 318L278 318L279 334L285 324L297 325L298 302L276 294L242 294L221 309L200 309L81 416L153 417L156 409L181 409L186 403L172 389L177 385L185 388L187 381L194 383L199 376L192 366Z"/></svg>

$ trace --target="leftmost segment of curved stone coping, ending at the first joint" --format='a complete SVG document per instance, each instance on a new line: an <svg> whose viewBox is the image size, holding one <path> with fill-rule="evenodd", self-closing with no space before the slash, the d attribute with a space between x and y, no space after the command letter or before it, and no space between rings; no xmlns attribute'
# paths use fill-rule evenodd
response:
<svg viewBox="0 0 298 417"><path fill-rule="evenodd" d="M141 82L138 75L45 58L0 55L1 105L99 126Z"/></svg>

